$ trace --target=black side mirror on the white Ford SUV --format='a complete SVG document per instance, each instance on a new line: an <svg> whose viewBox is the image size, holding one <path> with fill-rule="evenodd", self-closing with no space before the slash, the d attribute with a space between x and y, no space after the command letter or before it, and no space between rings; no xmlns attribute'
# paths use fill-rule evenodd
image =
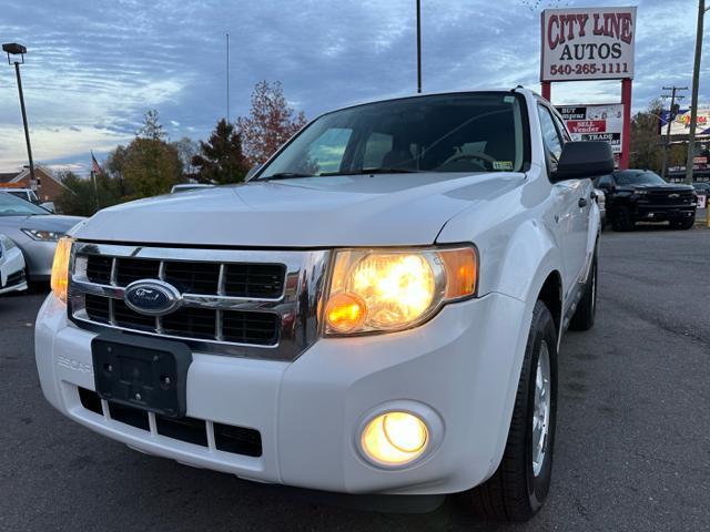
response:
<svg viewBox="0 0 710 532"><path fill-rule="evenodd" d="M584 180L613 172L611 145L604 141L575 141L562 147L552 181Z"/></svg>

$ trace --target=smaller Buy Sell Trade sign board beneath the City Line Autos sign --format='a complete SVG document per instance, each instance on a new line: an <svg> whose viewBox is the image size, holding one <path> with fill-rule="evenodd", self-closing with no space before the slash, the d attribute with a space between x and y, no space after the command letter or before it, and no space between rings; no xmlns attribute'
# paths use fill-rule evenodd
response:
<svg viewBox="0 0 710 532"><path fill-rule="evenodd" d="M623 105L557 105L557 111L575 141L607 141L613 153L621 153Z"/></svg>

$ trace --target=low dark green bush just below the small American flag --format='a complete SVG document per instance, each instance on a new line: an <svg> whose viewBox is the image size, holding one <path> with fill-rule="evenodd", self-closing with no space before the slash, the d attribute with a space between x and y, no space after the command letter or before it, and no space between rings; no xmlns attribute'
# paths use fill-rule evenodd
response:
<svg viewBox="0 0 710 532"><path fill-rule="evenodd" d="M95 185L91 177L80 177L73 172L61 176L65 188L57 198L57 208L63 214L74 216L92 216L98 209L121 202L118 180L105 174L95 176Z"/></svg>

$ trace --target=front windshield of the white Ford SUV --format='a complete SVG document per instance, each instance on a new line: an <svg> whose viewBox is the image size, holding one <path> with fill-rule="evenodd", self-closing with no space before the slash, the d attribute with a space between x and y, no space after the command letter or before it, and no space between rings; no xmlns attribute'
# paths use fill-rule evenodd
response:
<svg viewBox="0 0 710 532"><path fill-rule="evenodd" d="M258 178L520 172L529 158L523 104L509 92L463 93L335 111L302 131Z"/></svg>

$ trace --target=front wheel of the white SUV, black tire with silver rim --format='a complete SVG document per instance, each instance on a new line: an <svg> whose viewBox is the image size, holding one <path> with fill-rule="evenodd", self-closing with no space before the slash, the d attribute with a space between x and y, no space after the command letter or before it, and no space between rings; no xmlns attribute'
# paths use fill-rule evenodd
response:
<svg viewBox="0 0 710 532"><path fill-rule="evenodd" d="M545 374L547 379L541 379ZM546 382L544 396L537 389L538 378L539 382ZM536 398L541 399L536 401ZM545 403L547 417L541 416L544 408L539 408L536 416L536 405L539 407ZM532 311L503 460L490 479L460 494L467 508L484 519L513 522L528 521L542 508L552 473L556 412L557 329L547 306L538 300ZM540 424L540 419L546 419L546 422ZM540 438L537 427L542 427ZM542 454L537 454L539 460L535 462L534 441L542 442Z"/></svg>

